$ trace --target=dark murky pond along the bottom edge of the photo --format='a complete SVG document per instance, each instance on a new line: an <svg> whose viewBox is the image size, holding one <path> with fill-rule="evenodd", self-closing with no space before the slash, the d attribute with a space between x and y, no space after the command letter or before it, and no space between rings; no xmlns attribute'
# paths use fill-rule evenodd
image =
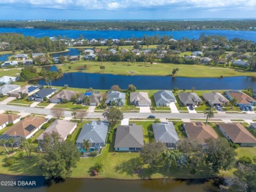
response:
<svg viewBox="0 0 256 192"><path fill-rule="evenodd" d="M122 191L122 192L183 192L183 191L217 191L213 180L112 180L112 179L78 179L67 178L65 182L45 183L42 176L8 176L0 175L1 181L35 181L35 186L1 186L1 192L16 192L16 191L37 191L37 192L85 192L85 191Z"/></svg>

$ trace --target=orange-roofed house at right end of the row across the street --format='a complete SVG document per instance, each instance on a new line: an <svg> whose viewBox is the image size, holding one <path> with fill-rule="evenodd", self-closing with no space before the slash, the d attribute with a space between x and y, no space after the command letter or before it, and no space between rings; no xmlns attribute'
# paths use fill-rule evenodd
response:
<svg viewBox="0 0 256 192"><path fill-rule="evenodd" d="M233 98L236 98L237 106L252 106L256 104L256 100L245 94L244 92L240 90L228 90L225 91L225 96L228 98L228 100L232 100Z"/></svg>

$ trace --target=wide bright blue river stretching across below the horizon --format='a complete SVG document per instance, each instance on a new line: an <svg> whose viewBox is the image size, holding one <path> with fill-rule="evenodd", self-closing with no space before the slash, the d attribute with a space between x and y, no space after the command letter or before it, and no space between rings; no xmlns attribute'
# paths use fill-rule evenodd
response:
<svg viewBox="0 0 256 192"><path fill-rule="evenodd" d="M205 35L221 35L227 39L247 39L256 41L256 31L233 31L233 30L188 30L188 31L83 31L83 30L60 30L60 29L22 29L22 28L0 28L0 33L22 33L25 36L33 37L58 37L58 35L77 39L83 35L86 39L121 39L131 37L143 37L144 35L154 36L173 35L174 39L186 37L198 39L202 33Z"/></svg>

